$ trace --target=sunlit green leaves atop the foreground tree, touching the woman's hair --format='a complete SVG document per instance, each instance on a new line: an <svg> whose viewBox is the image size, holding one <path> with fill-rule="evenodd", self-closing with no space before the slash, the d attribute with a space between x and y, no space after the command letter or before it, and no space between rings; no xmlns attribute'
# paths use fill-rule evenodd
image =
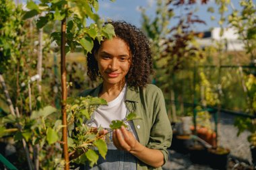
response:
<svg viewBox="0 0 256 170"><path fill-rule="evenodd" d="M98 1L40 1L38 5L29 1L27 7L30 11L26 11L25 19L45 13L37 19L37 28L42 28L50 21L67 18L66 52L74 52L77 46L82 46L87 54L92 50L94 39L100 42L104 37L109 39L115 35L112 25L102 27L103 21L96 14ZM95 24L88 26L87 19L92 19ZM53 32L51 38L58 46L61 45L61 32Z"/></svg>

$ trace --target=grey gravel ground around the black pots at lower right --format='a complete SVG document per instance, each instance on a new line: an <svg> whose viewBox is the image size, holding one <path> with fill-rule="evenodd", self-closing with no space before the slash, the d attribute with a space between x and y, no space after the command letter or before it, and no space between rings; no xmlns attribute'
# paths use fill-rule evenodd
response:
<svg viewBox="0 0 256 170"><path fill-rule="evenodd" d="M234 116L228 114L221 114L219 125L219 142L220 146L224 146L230 149L230 158L237 158L241 164L244 161L247 162L245 166L237 164L234 165L234 159L228 159L228 170L231 169L253 169L251 164L251 151L249 149L249 142L247 136L249 132L243 132L240 136L236 136L237 128L234 127ZM176 151L169 150L168 162L164 165L164 170L212 170L208 165L197 165L191 163L189 154L177 153Z"/></svg>

